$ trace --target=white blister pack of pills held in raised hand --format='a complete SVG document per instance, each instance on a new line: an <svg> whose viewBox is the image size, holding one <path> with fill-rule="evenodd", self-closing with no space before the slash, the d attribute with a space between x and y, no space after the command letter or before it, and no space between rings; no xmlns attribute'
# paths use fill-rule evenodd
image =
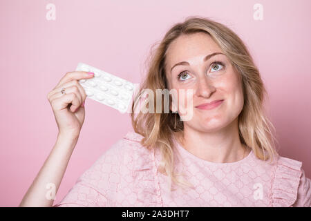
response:
<svg viewBox="0 0 311 221"><path fill-rule="evenodd" d="M91 79L80 79L87 97L125 113L131 104L133 93L138 84L133 84L104 70L79 63L77 71L94 73Z"/></svg>

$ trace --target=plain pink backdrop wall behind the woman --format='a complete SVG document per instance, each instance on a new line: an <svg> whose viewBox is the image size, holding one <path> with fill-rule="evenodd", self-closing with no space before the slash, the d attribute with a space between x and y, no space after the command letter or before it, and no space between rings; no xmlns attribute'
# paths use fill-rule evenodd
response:
<svg viewBox="0 0 311 221"><path fill-rule="evenodd" d="M56 20L46 19L46 5ZM253 19L255 3L263 21ZM245 41L270 94L279 153L311 177L311 1L42 1L0 3L0 206L18 206L53 148L57 124L46 98L84 62L134 83L151 45L190 15L209 17ZM86 99L86 119L55 200L131 130L129 114Z"/></svg>

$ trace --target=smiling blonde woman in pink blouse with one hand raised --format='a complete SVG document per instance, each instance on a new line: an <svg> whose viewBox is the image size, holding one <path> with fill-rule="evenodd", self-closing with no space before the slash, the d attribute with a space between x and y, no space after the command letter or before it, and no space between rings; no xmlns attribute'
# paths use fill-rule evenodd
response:
<svg viewBox="0 0 311 221"><path fill-rule="evenodd" d="M311 181L301 162L276 153L263 81L232 30L189 17L167 32L151 58L132 105L135 132L109 148L55 206L311 206ZM77 80L86 75L67 73L48 94L59 135L20 206L53 205L41 186L53 183L57 191L62 181L84 122L86 95ZM135 115L144 90L165 88L177 90L178 105ZM182 89L193 92L185 105ZM191 119L182 120L181 109L193 111Z"/></svg>

